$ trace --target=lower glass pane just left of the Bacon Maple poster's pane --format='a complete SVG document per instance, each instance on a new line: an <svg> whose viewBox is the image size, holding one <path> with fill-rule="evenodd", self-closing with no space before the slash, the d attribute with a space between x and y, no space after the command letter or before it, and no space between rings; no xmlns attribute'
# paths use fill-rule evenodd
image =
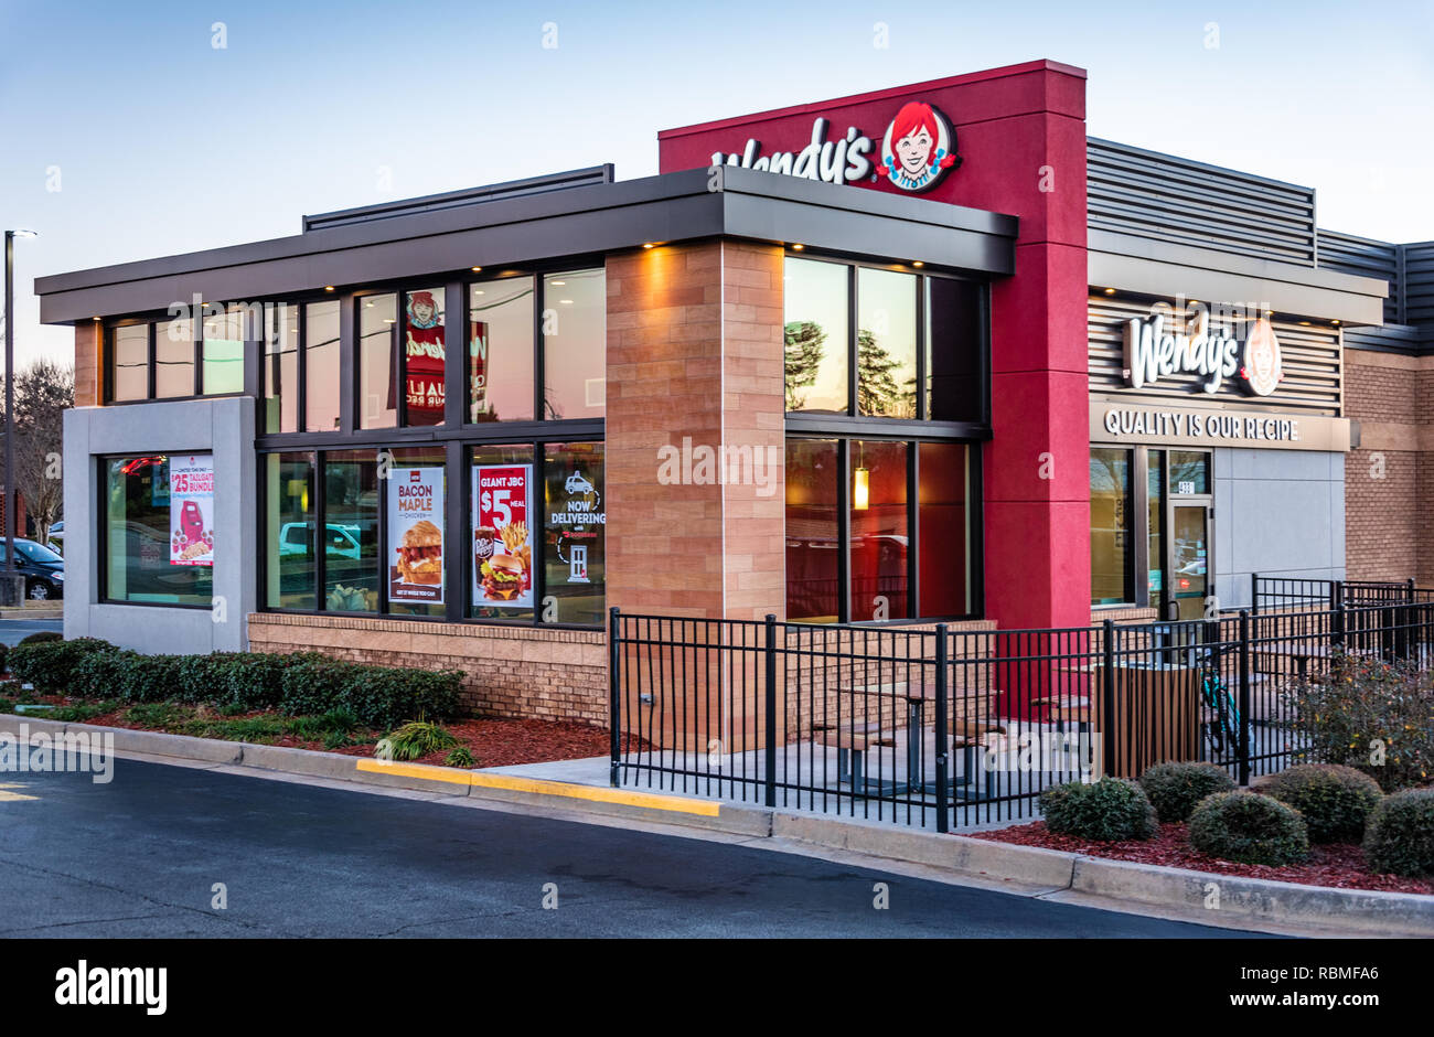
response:
<svg viewBox="0 0 1434 1037"><path fill-rule="evenodd" d="M324 608L379 611L379 458L376 450L324 455Z"/></svg>

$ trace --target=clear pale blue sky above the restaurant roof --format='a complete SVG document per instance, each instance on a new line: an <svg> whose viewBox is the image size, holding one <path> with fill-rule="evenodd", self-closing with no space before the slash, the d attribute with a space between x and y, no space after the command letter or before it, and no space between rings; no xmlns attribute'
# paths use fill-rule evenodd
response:
<svg viewBox="0 0 1434 1037"><path fill-rule="evenodd" d="M19 363L70 357L36 275L599 162L645 176L658 129L1037 57L1088 69L1094 136L1312 185L1322 227L1434 238L1434 1L1248 7L0 0L0 227L42 232L16 247Z"/></svg>

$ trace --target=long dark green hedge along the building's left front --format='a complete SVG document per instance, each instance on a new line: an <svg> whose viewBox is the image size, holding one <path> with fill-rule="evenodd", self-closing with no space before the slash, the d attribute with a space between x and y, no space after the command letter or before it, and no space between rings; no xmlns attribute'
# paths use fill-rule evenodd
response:
<svg viewBox="0 0 1434 1037"><path fill-rule="evenodd" d="M457 670L364 666L318 653L143 655L98 638L17 645L10 666L42 694L278 709L291 716L346 709L366 727L386 730L407 720L452 717L462 680Z"/></svg>

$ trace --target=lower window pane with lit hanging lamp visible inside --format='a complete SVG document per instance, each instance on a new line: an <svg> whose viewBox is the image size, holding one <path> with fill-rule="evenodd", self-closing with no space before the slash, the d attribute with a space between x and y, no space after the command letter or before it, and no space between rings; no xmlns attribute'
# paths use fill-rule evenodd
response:
<svg viewBox="0 0 1434 1037"><path fill-rule="evenodd" d="M850 445L853 622L903 620L908 608L906 443Z"/></svg>

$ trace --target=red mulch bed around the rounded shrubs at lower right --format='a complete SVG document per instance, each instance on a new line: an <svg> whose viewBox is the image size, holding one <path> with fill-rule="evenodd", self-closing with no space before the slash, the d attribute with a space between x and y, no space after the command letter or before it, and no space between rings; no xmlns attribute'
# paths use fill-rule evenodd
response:
<svg viewBox="0 0 1434 1037"><path fill-rule="evenodd" d="M1018 846L1043 846L1068 853L1110 858L1113 861L1136 861L1139 863L1163 865L1166 868L1187 868L1216 875L1242 875L1252 879L1275 879L1296 882L1304 886L1334 886L1336 889L1378 889L1391 894L1434 894L1434 882L1408 879L1398 875L1377 875L1367 871L1364 852L1359 846L1326 843L1312 846L1309 859L1298 865L1272 868L1271 865L1245 865L1233 861L1197 853L1186 839L1184 823L1162 825L1154 839L1130 839L1126 842L1087 842L1070 835L1055 835L1047 830L1044 820L1017 825L992 832L971 832L972 839L1010 842Z"/></svg>

